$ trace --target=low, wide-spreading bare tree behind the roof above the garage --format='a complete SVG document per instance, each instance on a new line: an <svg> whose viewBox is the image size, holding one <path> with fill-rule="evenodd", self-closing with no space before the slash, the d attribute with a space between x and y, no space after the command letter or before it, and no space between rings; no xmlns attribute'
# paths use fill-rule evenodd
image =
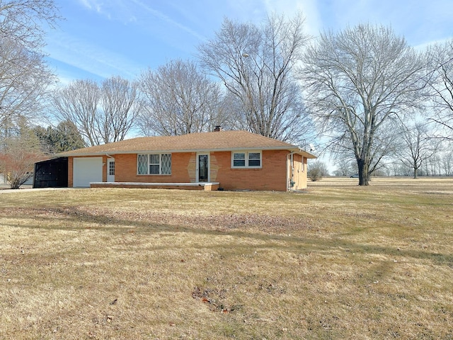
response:
<svg viewBox="0 0 453 340"><path fill-rule="evenodd" d="M86 145L123 140L142 108L138 83L121 77L102 86L85 79L73 81L53 95L55 115L76 125Z"/></svg>

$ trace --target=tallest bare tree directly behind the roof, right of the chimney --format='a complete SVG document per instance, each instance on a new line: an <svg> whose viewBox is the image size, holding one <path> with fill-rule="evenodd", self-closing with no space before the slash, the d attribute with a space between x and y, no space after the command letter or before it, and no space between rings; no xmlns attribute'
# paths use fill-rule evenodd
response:
<svg viewBox="0 0 453 340"><path fill-rule="evenodd" d="M294 67L308 41L297 14L270 16L261 26L225 19L214 39L200 45L203 67L222 80L239 103L247 130L297 142L311 132L294 80Z"/></svg>

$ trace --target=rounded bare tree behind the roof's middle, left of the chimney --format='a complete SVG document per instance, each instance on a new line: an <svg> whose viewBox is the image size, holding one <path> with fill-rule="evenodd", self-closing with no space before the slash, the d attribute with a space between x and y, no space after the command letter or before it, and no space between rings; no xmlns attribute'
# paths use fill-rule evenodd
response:
<svg viewBox="0 0 453 340"><path fill-rule="evenodd" d="M139 117L145 135L185 135L222 125L219 86L202 74L194 62L173 60L142 74L147 99Z"/></svg>

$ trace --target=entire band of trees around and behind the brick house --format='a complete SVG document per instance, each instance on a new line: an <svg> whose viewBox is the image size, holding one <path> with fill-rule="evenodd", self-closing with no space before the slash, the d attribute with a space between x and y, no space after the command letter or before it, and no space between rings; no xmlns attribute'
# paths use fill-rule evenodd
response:
<svg viewBox="0 0 453 340"><path fill-rule="evenodd" d="M451 174L453 39L415 50L389 26L310 40L302 13L258 24L225 18L194 60L55 87L41 48L42 28L58 20L53 0L0 2L0 172L11 173L15 143L42 158L132 132L221 125L297 145L317 140L342 174L353 162L363 186L396 166L414 177Z"/></svg>

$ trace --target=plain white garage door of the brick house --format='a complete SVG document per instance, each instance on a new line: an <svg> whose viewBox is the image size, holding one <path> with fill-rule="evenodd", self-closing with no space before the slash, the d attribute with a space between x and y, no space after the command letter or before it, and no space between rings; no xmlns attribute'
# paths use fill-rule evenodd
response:
<svg viewBox="0 0 453 340"><path fill-rule="evenodd" d="M73 186L90 186L102 182L102 157L74 158Z"/></svg>

